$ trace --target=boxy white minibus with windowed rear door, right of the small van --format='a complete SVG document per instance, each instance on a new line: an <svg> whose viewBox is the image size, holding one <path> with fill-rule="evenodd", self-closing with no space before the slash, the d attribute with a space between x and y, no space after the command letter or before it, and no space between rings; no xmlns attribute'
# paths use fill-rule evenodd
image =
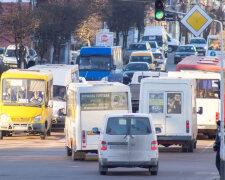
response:
<svg viewBox="0 0 225 180"><path fill-rule="evenodd" d="M152 115L159 144L193 152L198 133L193 79L142 79L139 112Z"/></svg>

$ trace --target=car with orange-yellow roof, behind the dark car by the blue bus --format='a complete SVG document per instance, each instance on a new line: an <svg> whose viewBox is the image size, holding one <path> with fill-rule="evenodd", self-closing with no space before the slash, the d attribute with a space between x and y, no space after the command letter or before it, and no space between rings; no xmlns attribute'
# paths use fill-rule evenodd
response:
<svg viewBox="0 0 225 180"><path fill-rule="evenodd" d="M155 59L152 52L149 51L132 52L129 62L147 62L149 69L155 70Z"/></svg>

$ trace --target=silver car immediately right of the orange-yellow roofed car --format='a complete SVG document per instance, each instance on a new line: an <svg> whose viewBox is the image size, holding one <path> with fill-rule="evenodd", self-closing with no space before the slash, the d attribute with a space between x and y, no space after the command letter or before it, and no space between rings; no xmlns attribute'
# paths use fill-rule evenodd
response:
<svg viewBox="0 0 225 180"><path fill-rule="evenodd" d="M161 52L154 52L153 56L156 62L155 70L166 72L167 58Z"/></svg>

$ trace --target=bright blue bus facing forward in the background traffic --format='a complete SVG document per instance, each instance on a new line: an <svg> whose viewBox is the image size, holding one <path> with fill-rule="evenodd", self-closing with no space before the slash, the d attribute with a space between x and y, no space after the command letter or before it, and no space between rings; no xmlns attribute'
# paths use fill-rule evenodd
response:
<svg viewBox="0 0 225 180"><path fill-rule="evenodd" d="M122 49L114 47L83 47L76 60L81 77L87 81L109 80L111 72L123 69Z"/></svg>

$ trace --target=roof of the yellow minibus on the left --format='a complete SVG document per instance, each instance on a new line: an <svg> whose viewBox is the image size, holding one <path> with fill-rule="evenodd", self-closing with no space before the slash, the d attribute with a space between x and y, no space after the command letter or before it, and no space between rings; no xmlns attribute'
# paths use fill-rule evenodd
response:
<svg viewBox="0 0 225 180"><path fill-rule="evenodd" d="M19 78L23 75L29 76L47 76L49 78L52 77L52 73L50 71L40 71L40 70L28 70L28 69L9 69L8 71L2 74L2 77L15 77ZM25 77L24 77L25 78Z"/></svg>

